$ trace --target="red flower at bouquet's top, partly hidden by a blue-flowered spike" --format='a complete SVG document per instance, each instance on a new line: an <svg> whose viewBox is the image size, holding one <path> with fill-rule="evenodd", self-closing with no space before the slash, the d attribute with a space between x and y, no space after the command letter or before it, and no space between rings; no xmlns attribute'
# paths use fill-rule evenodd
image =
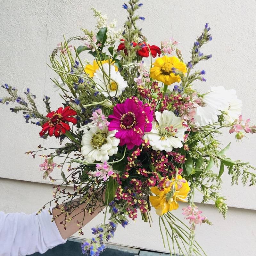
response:
<svg viewBox="0 0 256 256"><path fill-rule="evenodd" d="M121 50L124 50L124 53L127 54L127 49L125 49L125 40L124 39L120 39L120 41L122 41L122 43L120 43L120 45L118 45L117 47L117 51L121 51ZM133 42L132 43L132 46L135 47L137 45L137 43ZM139 43L139 45L141 46L141 49L139 49L137 51L137 54L141 57L148 57L149 56L149 50L148 48L150 49L151 51L151 54L152 56L155 58L158 54L158 57L160 56L161 54L161 49L156 46L156 45L146 45L146 43L144 42L143 44L142 43Z"/></svg>

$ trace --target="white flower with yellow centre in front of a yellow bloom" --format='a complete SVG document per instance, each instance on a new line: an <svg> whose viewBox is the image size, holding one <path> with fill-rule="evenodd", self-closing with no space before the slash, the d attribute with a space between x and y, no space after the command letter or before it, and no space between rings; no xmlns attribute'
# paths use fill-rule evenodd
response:
<svg viewBox="0 0 256 256"><path fill-rule="evenodd" d="M102 65L102 68L104 72L113 80L110 80L108 83L108 78L106 76L104 76L103 78L103 72L100 69L97 69L93 77L97 89L101 90L102 94L105 97L109 97L109 94L111 97L119 96L128 86L127 82L118 71L115 71L115 67L113 65L109 65L109 63L104 63Z"/></svg>

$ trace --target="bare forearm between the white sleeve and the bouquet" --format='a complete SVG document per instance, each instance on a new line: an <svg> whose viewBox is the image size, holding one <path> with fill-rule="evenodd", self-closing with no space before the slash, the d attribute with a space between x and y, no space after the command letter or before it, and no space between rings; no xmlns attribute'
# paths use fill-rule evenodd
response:
<svg viewBox="0 0 256 256"><path fill-rule="evenodd" d="M104 192L103 192L103 198L104 198ZM75 199L76 200L76 199ZM56 223L56 226L59 229L59 232L63 239L67 239L74 233L76 233L81 227L85 226L89 221L95 218L95 216L98 215L98 213L104 208L103 202L99 200L96 203L95 210L93 213L88 213L84 209L87 206L87 201L76 207L72 213L70 213L69 218L72 218L69 222L66 222L66 229L64 228L63 224L60 224L60 222L63 221L65 218L65 213L62 213L62 210L58 210L57 208L53 208L53 217ZM61 209L64 204L59 205L59 208ZM80 223L80 225L78 225Z"/></svg>

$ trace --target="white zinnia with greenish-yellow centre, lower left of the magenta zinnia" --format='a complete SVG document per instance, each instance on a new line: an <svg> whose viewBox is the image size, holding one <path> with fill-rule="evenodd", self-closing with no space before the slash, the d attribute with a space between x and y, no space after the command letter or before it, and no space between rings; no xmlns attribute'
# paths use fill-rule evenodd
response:
<svg viewBox="0 0 256 256"><path fill-rule="evenodd" d="M81 154L90 163L95 160L108 161L109 156L116 154L118 151L117 146L120 139L114 137L116 132L117 130L109 131L107 126L102 129L92 126L89 131L84 130Z"/></svg>

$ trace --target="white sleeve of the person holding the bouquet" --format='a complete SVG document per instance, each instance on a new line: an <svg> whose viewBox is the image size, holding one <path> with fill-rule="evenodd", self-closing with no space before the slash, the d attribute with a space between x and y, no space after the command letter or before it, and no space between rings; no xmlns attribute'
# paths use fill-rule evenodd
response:
<svg viewBox="0 0 256 256"><path fill-rule="evenodd" d="M44 253L67 240L48 211L40 214L0 212L0 256L25 256Z"/></svg>

